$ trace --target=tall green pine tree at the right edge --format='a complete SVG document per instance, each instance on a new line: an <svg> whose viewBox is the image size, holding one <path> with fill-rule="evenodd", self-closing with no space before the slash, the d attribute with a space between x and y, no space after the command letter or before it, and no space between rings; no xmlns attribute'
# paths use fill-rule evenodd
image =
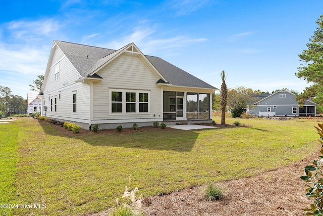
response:
<svg viewBox="0 0 323 216"><path fill-rule="evenodd" d="M303 105L305 100L313 98L313 102L323 106L323 15L316 21L318 27L314 31L314 35L306 44L307 50L298 55L301 64L295 75L307 82L311 82L310 87L306 87L296 100Z"/></svg>

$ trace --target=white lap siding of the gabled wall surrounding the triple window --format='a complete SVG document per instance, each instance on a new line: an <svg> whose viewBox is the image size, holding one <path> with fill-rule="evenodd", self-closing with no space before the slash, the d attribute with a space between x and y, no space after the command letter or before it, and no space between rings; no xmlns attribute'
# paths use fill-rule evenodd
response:
<svg viewBox="0 0 323 216"><path fill-rule="evenodd" d="M162 114L161 88L155 84L159 78L136 54L122 54L97 74L103 79L94 84L94 120L144 119ZM150 91L150 113L109 115L109 89Z"/></svg>

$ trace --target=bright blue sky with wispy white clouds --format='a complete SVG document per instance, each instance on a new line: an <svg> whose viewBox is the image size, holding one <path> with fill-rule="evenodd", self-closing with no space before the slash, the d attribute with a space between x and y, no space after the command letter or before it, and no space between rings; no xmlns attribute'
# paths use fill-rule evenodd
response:
<svg viewBox="0 0 323 216"><path fill-rule="evenodd" d="M295 76L321 0L0 0L0 85L27 97L44 74L53 40L109 49L134 42L221 87L302 92Z"/></svg>

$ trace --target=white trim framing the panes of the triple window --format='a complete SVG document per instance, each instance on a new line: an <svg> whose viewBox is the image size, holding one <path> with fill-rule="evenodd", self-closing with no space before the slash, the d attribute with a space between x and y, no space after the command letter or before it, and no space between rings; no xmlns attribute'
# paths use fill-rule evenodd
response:
<svg viewBox="0 0 323 216"><path fill-rule="evenodd" d="M112 112L112 92L122 92L122 112ZM126 112L126 93L132 92L136 93L136 112ZM147 93L148 94L148 112L139 112L139 93ZM147 90L132 90L132 89L109 89L109 114L110 115L147 115L150 114L150 91Z"/></svg>

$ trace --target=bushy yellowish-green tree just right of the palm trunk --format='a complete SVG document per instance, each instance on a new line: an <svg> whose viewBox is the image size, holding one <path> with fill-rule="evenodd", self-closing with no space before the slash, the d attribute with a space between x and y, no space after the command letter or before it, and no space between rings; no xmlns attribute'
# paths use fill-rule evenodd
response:
<svg viewBox="0 0 323 216"><path fill-rule="evenodd" d="M228 106L231 109L232 117L241 117L248 105L257 101L257 98L253 97L254 94L252 89L244 87L237 87L228 92Z"/></svg>

